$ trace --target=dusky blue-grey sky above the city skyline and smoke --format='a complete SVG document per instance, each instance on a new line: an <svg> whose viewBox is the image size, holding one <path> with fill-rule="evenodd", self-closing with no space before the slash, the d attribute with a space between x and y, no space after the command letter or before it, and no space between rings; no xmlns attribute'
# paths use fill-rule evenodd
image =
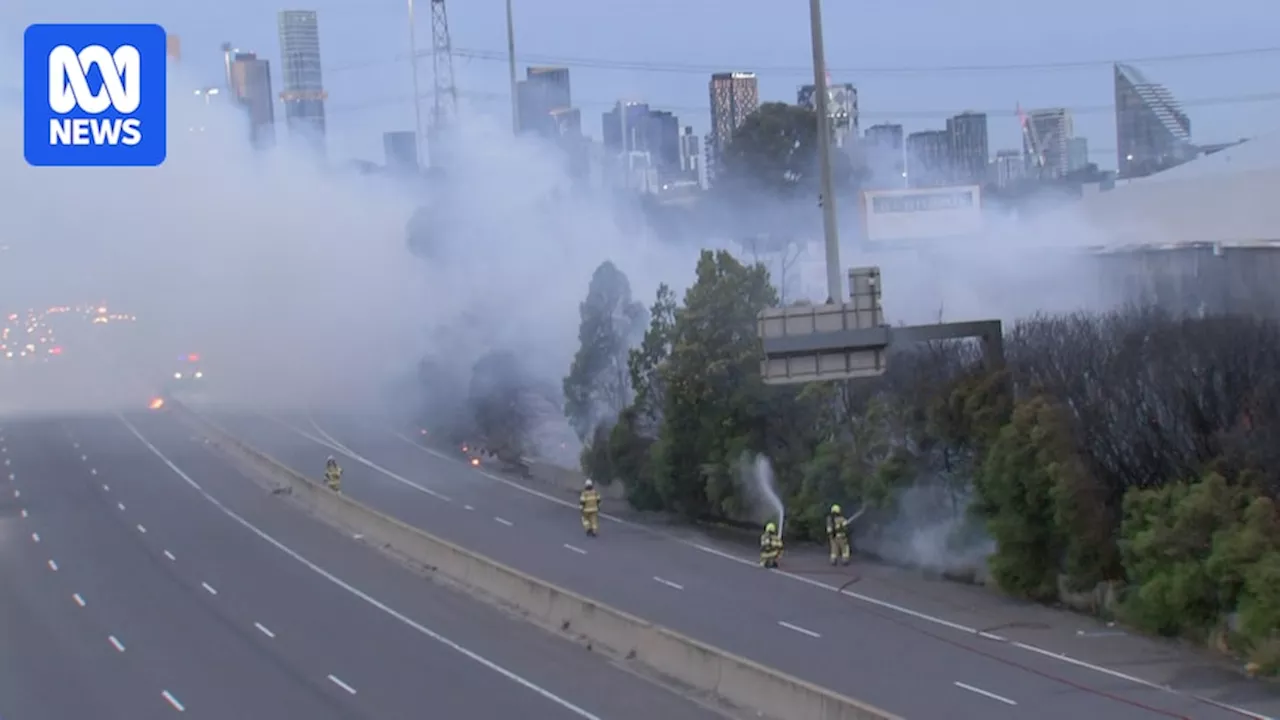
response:
<svg viewBox="0 0 1280 720"><path fill-rule="evenodd" d="M279 87L275 13L317 10L329 91L330 155L381 160L380 133L412 129L408 22L403 0L5 0L0 46L20 47L31 22L159 22L182 37L191 77L221 81L219 45L271 60ZM713 70L753 70L762 100L795 101L812 82L809 14L791 0L513 0L516 56L571 69L585 131L620 99L668 109L699 133L708 128ZM1176 5L1176 12L1171 12ZM1053 12L1050 12L1053 10ZM503 0L449 6L461 99L509 113ZM859 90L863 128L899 122L908 132L946 117L989 114L991 150L1018 147L1015 108L1066 106L1092 161L1115 167L1112 60L1134 60L1167 86L1192 117L1198 142L1276 129L1280 117L1280 6L1274 0L914 0L824 8L827 63L835 82ZM417 45L430 47L430 8L417 8ZM1261 50L1248 53L1249 50ZM1187 55L1210 55L1181 58ZM431 88L431 61L420 82ZM1064 67L1050 67L1064 65ZM959 68L959 69L957 69ZM429 96L424 111L429 109ZM278 111L278 117L280 113Z"/></svg>

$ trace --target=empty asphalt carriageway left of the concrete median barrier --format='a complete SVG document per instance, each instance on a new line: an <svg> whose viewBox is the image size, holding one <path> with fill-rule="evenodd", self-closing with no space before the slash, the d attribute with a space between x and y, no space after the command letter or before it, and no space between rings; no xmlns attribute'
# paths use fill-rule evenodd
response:
<svg viewBox="0 0 1280 720"><path fill-rule="evenodd" d="M273 498L161 414L0 423L0 717L717 717Z"/></svg>

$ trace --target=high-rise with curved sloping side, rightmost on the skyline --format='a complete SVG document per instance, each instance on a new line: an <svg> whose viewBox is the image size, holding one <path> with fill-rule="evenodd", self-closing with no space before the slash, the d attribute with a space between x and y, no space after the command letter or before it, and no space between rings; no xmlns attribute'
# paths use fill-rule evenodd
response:
<svg viewBox="0 0 1280 720"><path fill-rule="evenodd" d="M1116 63L1115 95L1121 178L1149 176L1196 156L1192 120L1169 88Z"/></svg>

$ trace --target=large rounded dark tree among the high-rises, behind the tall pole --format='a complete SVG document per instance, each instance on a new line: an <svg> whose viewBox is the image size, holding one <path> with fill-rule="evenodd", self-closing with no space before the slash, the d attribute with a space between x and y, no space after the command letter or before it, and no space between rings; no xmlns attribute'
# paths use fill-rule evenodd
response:
<svg viewBox="0 0 1280 720"><path fill-rule="evenodd" d="M808 108L765 102L746 117L724 149L717 179L733 193L818 193L818 115ZM845 152L832 152L837 187L852 177Z"/></svg>

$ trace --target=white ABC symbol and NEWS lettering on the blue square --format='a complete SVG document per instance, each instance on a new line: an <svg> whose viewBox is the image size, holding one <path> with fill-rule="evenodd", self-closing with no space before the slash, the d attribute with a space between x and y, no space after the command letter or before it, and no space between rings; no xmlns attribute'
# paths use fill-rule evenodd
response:
<svg viewBox="0 0 1280 720"><path fill-rule="evenodd" d="M88 72L97 68L102 86L93 92ZM131 115L142 104L142 55L132 45L111 53L101 45L90 45L77 53L59 45L49 53L49 143L58 145L124 145L142 142L142 120L128 117L99 117L108 110ZM88 118L68 118L79 110ZM63 117L56 117L63 115Z"/></svg>

